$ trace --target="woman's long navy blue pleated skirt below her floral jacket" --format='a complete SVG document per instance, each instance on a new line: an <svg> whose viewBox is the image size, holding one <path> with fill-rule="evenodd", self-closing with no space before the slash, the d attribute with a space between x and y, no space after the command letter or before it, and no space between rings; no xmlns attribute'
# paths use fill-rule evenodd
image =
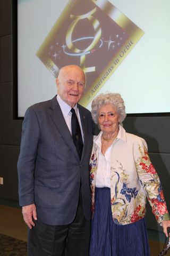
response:
<svg viewBox="0 0 170 256"><path fill-rule="evenodd" d="M90 256L150 256L145 219L116 225L111 211L111 189L96 188L91 226Z"/></svg>

